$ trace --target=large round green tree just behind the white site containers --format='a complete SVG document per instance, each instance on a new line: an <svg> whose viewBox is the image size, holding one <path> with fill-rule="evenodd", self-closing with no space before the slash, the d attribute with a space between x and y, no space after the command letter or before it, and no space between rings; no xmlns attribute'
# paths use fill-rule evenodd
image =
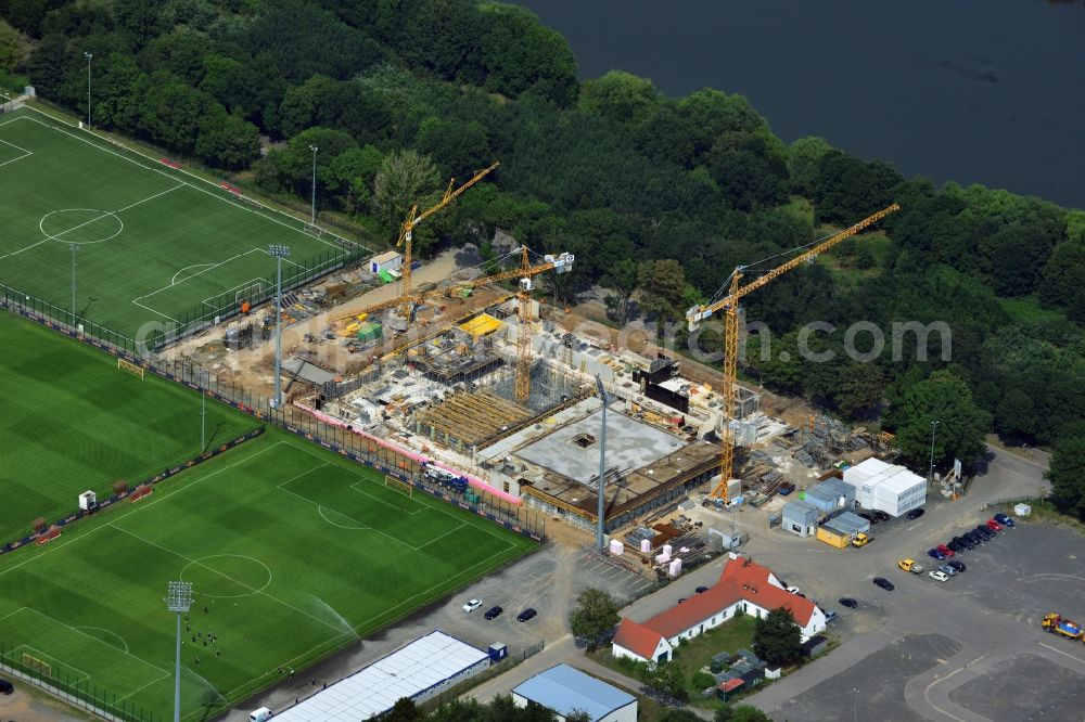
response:
<svg viewBox="0 0 1085 722"><path fill-rule="evenodd" d="M972 390L949 371L935 371L904 394L902 407L892 409L896 443L912 464L927 465L934 433L934 461L952 459L971 462L983 452L983 437L991 428L991 414L972 401Z"/></svg>

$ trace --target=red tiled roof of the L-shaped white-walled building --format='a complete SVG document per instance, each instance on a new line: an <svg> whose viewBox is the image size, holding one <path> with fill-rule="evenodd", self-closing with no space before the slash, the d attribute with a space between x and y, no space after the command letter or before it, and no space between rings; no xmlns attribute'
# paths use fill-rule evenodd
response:
<svg viewBox="0 0 1085 722"><path fill-rule="evenodd" d="M724 566L719 581L705 592L694 594L682 604L655 615L643 624L623 619L614 643L650 659L655 652L655 645L659 644L659 636L671 639L681 634L741 599L756 604L763 609L783 607L801 627L806 627L814 616L814 603L769 582L771 573L766 567L749 559L731 559ZM629 631L626 633L626 639L630 642L634 641L634 634L643 635L643 646L647 647L649 635L652 635L651 639L655 641L652 642L650 650L642 653L622 641L623 630L627 629L627 624ZM634 628L637 629L636 632L633 632Z"/></svg>

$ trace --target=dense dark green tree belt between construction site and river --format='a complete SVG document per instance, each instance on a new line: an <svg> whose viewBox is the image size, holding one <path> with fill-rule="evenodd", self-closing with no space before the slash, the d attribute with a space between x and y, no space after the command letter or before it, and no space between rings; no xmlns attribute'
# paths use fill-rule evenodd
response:
<svg viewBox="0 0 1085 722"><path fill-rule="evenodd" d="M882 421L916 462L931 421L944 465L974 457L987 430L1054 444L1085 418L1083 211L935 189L817 138L787 145L741 95L674 99L622 72L578 83L567 43L497 2L0 0L0 15L12 26L0 63L44 98L86 114L92 53L95 125L299 198L317 146L319 206L370 231L391 235L449 177L499 159L418 234L418 252L498 228L570 250L578 261L558 291L610 289L615 321L634 299L661 328L680 322L736 266L752 278L774 262L760 259L897 201L878 233L746 299L773 351L763 359L767 335L751 335L744 372ZM857 320L886 336L894 322L943 322L952 341L933 334L899 359L857 361L843 331ZM838 331L802 338L814 321ZM701 341L718 347L718 334ZM838 361L810 363L803 344Z"/></svg>

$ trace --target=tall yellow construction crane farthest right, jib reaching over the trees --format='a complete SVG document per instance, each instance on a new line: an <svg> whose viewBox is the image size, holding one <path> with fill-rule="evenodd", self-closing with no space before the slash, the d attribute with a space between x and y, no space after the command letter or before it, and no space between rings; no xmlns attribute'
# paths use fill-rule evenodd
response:
<svg viewBox="0 0 1085 722"><path fill-rule="evenodd" d="M761 288L770 281L779 278L788 271L797 268L802 263L813 260L818 254L832 248L841 241L850 238L868 225L877 223L885 216L901 209L901 206L893 204L883 208L872 216L864 218L855 225L844 229L825 241L818 243L809 250L795 256L791 260L768 271L757 280L742 285L742 271L748 267L739 266L731 273L730 289L727 295L707 306L694 306L686 311L686 322L691 332L701 326L701 322L710 318L713 313L724 311L724 420L720 434L720 462L719 462L719 484L712 491L716 499L727 498L727 482L731 478L735 467L735 433L731 430L731 421L735 418L735 397L738 388L738 352L739 352L739 300L757 288Z"/></svg>

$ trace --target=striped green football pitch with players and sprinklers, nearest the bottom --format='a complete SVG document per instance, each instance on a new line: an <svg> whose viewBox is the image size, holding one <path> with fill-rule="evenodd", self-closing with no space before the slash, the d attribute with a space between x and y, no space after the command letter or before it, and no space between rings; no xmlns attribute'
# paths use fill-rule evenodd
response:
<svg viewBox="0 0 1085 722"><path fill-rule="evenodd" d="M280 666L301 671L534 547L383 478L270 429L145 501L0 557L0 643L165 717L175 622L162 599L183 578L197 597L183 713L202 719L280 680ZM197 631L218 643L193 645Z"/></svg>

